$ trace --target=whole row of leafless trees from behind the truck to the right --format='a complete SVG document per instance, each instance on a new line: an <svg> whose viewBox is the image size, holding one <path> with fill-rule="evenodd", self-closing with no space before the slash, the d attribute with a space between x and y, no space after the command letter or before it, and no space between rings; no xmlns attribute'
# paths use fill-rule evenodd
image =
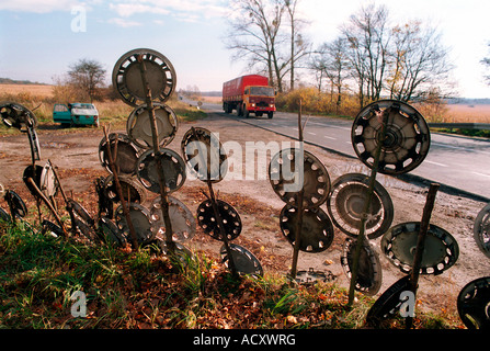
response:
<svg viewBox="0 0 490 351"><path fill-rule="evenodd" d="M303 34L309 23L300 2L231 1L227 48L278 92L306 83L300 78L308 72L319 91L335 93L339 105L344 94L364 106L380 98L419 102L454 92L449 50L435 27L419 20L392 25L385 5L369 3L346 19L333 41L314 47Z"/></svg>

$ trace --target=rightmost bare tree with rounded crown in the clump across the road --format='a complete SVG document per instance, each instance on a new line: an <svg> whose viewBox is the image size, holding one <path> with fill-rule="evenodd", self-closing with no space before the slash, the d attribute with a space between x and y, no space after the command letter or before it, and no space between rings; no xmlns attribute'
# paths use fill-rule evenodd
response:
<svg viewBox="0 0 490 351"><path fill-rule="evenodd" d="M420 21L392 29L392 68L387 79L391 99L424 100L434 87L441 94L451 91L448 49L433 27L422 27ZM446 88L446 89L443 89Z"/></svg>

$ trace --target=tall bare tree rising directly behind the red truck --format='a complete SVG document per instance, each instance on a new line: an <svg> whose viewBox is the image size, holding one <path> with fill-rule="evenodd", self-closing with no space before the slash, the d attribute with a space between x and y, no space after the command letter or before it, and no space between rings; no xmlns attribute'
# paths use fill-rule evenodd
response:
<svg viewBox="0 0 490 351"><path fill-rule="evenodd" d="M230 32L226 46L235 52L233 59L246 59L249 67L259 66L267 72L271 86L283 91L286 60L280 47L284 8L282 0L235 0L233 19L229 21Z"/></svg>

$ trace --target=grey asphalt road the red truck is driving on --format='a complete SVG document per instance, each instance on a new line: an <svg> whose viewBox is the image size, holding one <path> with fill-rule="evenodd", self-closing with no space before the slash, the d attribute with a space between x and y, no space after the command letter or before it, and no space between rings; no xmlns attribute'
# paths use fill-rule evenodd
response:
<svg viewBox="0 0 490 351"><path fill-rule="evenodd" d="M297 114L276 112L274 118L239 117L225 114L221 105L202 105L210 113L229 116L242 123L298 138ZM352 121L304 114L306 143L357 158L351 143ZM425 160L410 173L398 177L411 182L440 183L441 191L459 193L490 202L490 141L463 136L431 133L431 148Z"/></svg>

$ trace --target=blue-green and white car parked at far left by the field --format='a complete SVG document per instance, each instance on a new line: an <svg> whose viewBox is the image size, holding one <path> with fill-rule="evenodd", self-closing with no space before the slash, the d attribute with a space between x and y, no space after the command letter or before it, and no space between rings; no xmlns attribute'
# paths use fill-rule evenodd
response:
<svg viewBox="0 0 490 351"><path fill-rule="evenodd" d="M53 107L53 121L61 125L94 125L99 127L99 111L91 103L57 103Z"/></svg>

